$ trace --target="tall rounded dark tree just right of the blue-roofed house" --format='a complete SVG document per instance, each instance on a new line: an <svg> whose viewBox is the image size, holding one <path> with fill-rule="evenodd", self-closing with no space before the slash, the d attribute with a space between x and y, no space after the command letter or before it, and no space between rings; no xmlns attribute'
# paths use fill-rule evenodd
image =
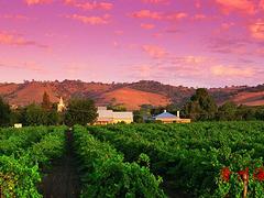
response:
<svg viewBox="0 0 264 198"><path fill-rule="evenodd" d="M217 103L207 89L199 88L185 105L184 112L193 120L212 120L217 112Z"/></svg>

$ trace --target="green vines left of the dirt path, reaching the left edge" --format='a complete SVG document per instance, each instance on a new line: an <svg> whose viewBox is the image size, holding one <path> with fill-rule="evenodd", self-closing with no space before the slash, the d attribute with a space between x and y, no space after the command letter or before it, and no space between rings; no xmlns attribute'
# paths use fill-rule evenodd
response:
<svg viewBox="0 0 264 198"><path fill-rule="evenodd" d="M42 197L41 168L65 147L65 127L4 129L0 132L0 197Z"/></svg>

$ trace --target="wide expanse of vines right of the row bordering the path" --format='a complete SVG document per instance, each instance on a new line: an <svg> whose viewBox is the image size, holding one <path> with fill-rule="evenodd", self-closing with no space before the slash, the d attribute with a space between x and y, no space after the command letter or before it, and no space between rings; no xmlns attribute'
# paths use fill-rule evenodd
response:
<svg viewBox="0 0 264 198"><path fill-rule="evenodd" d="M241 195L243 187L235 174L229 184L222 183L223 167L235 173L249 167L249 195L264 194L252 178L254 168L263 165L263 122L107 125L88 127L88 131L109 141L128 162L139 162L139 155L146 154L154 174L173 179L175 188L194 196Z"/></svg>

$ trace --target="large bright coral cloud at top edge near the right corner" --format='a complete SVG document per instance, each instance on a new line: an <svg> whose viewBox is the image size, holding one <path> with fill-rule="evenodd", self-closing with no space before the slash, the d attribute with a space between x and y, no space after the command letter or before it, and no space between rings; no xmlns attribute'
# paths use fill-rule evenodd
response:
<svg viewBox="0 0 264 198"><path fill-rule="evenodd" d="M228 14L232 11L240 11L246 14L255 13L255 4L250 0L216 0L221 6L223 13Z"/></svg>

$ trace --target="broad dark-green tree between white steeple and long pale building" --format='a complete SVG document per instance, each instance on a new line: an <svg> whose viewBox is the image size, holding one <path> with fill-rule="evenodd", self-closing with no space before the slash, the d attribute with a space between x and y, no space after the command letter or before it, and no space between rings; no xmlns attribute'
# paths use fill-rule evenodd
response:
<svg viewBox="0 0 264 198"><path fill-rule="evenodd" d="M65 113L67 125L94 123L97 119L97 108L94 100L72 99Z"/></svg>

